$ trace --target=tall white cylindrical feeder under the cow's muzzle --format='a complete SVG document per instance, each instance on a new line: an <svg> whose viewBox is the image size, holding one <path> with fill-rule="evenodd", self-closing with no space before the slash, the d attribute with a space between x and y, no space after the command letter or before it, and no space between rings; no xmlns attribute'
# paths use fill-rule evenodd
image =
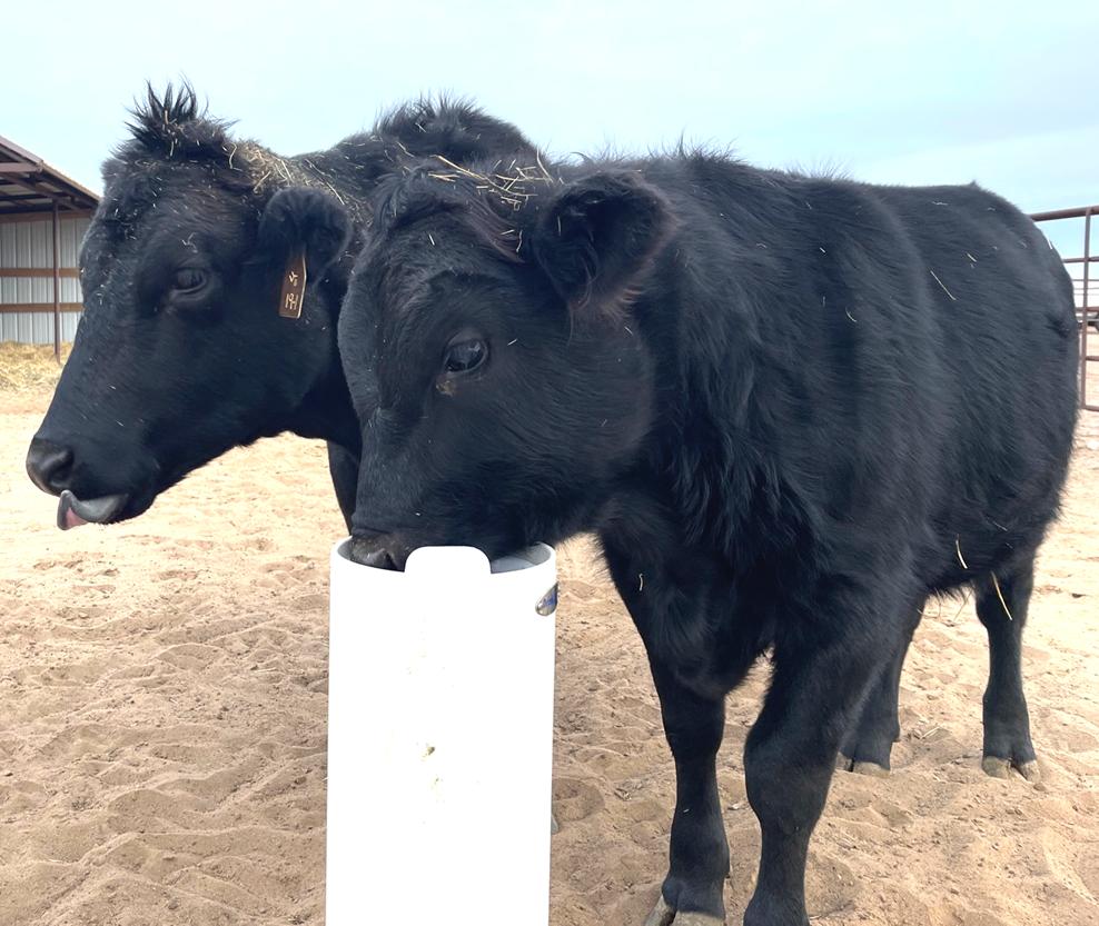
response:
<svg viewBox="0 0 1099 926"><path fill-rule="evenodd" d="M556 557L331 551L327 926L550 918Z"/></svg>

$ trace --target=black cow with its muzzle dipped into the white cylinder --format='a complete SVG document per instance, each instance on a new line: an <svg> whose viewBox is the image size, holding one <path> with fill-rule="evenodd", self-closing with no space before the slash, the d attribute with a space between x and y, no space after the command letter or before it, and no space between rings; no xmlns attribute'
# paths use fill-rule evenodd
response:
<svg viewBox="0 0 1099 926"><path fill-rule="evenodd" d="M764 653L751 926L808 923L833 761L888 761L929 595L974 589L986 757L1033 759L1020 636L1077 345L1029 219L977 186L705 153L506 179L425 162L379 203L339 322L363 422L354 556L597 531L675 759L651 926L724 922L715 755L724 696Z"/></svg>

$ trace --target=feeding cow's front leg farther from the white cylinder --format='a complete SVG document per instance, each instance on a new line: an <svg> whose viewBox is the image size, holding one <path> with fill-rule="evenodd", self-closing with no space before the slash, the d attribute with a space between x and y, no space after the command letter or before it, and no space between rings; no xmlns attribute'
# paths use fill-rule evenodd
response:
<svg viewBox="0 0 1099 926"><path fill-rule="evenodd" d="M844 617L835 606L821 608L812 633L792 634L775 646L771 689L744 748L747 798L762 832L745 926L808 926L809 838L824 808L840 739L881 654L899 645L899 615L863 605L858 617Z"/></svg>

